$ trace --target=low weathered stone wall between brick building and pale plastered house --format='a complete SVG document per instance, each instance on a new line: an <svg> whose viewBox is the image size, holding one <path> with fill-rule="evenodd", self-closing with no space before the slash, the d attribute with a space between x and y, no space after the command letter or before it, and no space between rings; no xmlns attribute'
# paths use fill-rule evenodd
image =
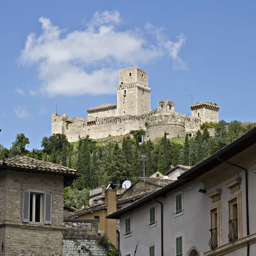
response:
<svg viewBox="0 0 256 256"><path fill-rule="evenodd" d="M107 250L97 243L98 221L65 219L63 256L107 256Z"/></svg>

